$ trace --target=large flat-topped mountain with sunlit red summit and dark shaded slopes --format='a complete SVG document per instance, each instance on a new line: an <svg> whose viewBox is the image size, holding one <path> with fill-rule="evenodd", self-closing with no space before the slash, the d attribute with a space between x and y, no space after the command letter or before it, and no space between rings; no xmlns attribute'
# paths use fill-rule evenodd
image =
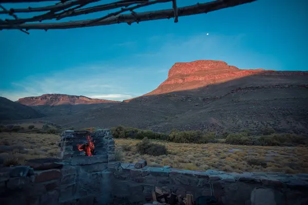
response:
<svg viewBox="0 0 308 205"><path fill-rule="evenodd" d="M242 70L213 60L175 65L156 90L123 103L57 106L61 114L35 109L64 127L308 133L308 72Z"/></svg>

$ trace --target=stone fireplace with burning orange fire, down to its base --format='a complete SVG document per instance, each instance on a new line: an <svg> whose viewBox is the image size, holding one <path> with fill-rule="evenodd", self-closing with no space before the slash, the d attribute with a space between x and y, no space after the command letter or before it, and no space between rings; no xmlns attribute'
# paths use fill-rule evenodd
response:
<svg viewBox="0 0 308 205"><path fill-rule="evenodd" d="M64 166L59 202L87 201L89 198L93 201L95 198L98 203L106 203L110 195L107 185L111 183L108 162L115 160L110 130L62 136L60 150Z"/></svg>

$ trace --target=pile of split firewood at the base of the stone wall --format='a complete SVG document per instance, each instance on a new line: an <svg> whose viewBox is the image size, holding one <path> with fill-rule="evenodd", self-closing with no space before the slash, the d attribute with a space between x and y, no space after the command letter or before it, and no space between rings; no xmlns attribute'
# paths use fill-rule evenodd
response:
<svg viewBox="0 0 308 205"><path fill-rule="evenodd" d="M170 190L170 192L167 192L159 187L155 187L155 192L152 192L152 200L152 203L144 203L143 205L194 205L193 195L186 194L186 196L181 196L177 195L176 191Z"/></svg>

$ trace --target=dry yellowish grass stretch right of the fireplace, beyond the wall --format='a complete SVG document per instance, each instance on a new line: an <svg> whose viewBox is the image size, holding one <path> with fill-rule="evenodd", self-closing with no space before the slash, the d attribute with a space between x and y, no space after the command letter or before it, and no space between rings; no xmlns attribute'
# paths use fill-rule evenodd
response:
<svg viewBox="0 0 308 205"><path fill-rule="evenodd" d="M236 146L228 144L164 144L168 155L140 155L136 144L140 140L115 139L125 162L145 159L150 166L172 166L187 170L219 170L226 172L308 173L307 147ZM126 148L129 147L130 150ZM124 149L122 149L124 148Z"/></svg>

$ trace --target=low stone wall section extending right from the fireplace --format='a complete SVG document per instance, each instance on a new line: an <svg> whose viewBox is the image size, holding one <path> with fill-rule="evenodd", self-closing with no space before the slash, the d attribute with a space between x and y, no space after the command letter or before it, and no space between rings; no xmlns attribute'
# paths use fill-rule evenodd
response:
<svg viewBox="0 0 308 205"><path fill-rule="evenodd" d="M167 191L170 189L176 191L177 195L193 194L195 199L202 195L213 195L219 204L247 205L253 204L252 193L256 194L256 190L261 187L266 189L262 197L268 198L272 195L276 201L276 203L266 203L267 205L308 204L308 174L258 172L239 174L214 170L188 171L169 167L141 169L135 167L137 166L130 163L114 163L112 193L115 197L142 204L146 198L151 198L151 192L158 186Z"/></svg>

